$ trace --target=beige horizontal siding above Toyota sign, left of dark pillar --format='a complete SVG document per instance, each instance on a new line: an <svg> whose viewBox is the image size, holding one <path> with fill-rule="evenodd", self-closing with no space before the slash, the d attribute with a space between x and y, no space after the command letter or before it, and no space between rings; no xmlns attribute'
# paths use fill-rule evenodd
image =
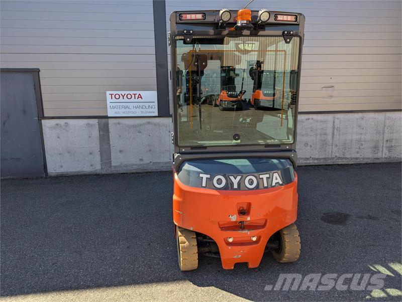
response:
<svg viewBox="0 0 402 302"><path fill-rule="evenodd" d="M152 1L1 1L1 67L40 68L45 116L107 115L156 90Z"/></svg>

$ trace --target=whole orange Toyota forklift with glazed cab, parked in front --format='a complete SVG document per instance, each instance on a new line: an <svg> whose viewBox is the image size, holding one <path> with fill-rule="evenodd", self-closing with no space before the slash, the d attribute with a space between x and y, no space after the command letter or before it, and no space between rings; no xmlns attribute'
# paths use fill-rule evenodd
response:
<svg viewBox="0 0 402 302"><path fill-rule="evenodd" d="M182 271L196 269L200 256L219 257L224 269L257 267L265 252L279 262L299 258L294 169L304 24L299 13L247 6L170 15L173 222ZM202 101L224 82L244 81L239 99L243 88L253 91L251 75L235 72L250 62L275 74L269 97L277 110L222 111Z"/></svg>

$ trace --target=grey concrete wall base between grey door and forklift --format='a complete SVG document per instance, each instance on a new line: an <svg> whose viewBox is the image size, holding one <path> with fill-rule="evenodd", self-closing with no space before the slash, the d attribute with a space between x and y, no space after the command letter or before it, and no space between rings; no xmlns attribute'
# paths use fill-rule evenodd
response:
<svg viewBox="0 0 402 302"><path fill-rule="evenodd" d="M48 174L170 170L171 118L42 120Z"/></svg>

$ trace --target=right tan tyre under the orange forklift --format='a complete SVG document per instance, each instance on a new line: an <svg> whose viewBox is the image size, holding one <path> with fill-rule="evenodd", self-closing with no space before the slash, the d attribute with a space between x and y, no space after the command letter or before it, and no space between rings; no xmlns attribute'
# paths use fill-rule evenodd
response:
<svg viewBox="0 0 402 302"><path fill-rule="evenodd" d="M279 247L271 250L272 257L278 262L293 262L300 256L300 236L294 223L279 230L275 235Z"/></svg>

